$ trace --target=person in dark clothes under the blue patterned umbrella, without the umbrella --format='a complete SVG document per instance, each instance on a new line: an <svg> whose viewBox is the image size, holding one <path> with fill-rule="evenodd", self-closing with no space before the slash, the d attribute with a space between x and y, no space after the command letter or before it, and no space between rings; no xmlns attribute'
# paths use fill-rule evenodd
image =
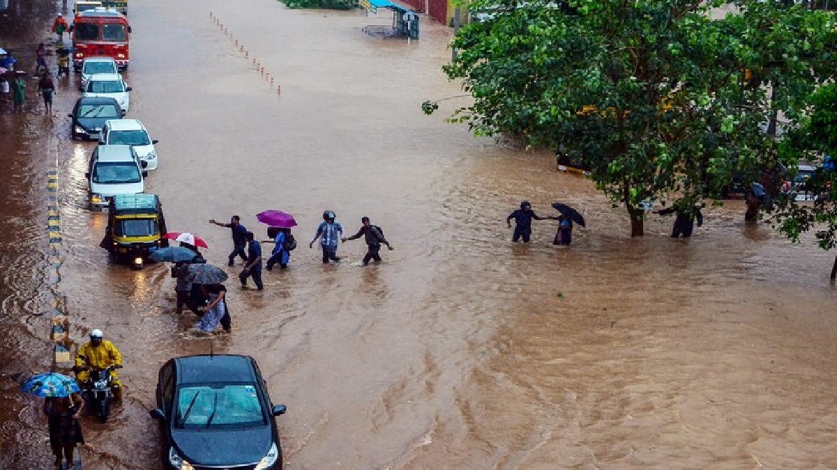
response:
<svg viewBox="0 0 837 470"><path fill-rule="evenodd" d="M67 460L67 467L73 467L76 444L84 444L79 416L85 408L85 401L78 393L63 397L48 397L44 401L44 415L49 426L49 446L55 456L55 468L64 468L62 461Z"/></svg>

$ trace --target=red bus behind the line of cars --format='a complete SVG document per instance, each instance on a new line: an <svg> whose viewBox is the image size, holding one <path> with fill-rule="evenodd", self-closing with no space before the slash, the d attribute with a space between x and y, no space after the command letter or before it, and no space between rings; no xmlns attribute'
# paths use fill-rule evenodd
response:
<svg viewBox="0 0 837 470"><path fill-rule="evenodd" d="M114 9L94 8L79 13L71 29L76 72L88 57L112 57L120 69L128 68L131 25L125 15Z"/></svg>

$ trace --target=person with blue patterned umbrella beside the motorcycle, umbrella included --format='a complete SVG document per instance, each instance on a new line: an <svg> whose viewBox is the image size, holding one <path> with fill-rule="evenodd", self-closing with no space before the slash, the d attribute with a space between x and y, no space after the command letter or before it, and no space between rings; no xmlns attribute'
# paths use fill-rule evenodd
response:
<svg viewBox="0 0 837 470"><path fill-rule="evenodd" d="M30 377L20 389L45 398L44 415L47 416L55 468L63 468L64 458L68 467L73 465L76 444L85 442L79 423L85 401L79 396L79 384L72 377L52 372Z"/></svg>

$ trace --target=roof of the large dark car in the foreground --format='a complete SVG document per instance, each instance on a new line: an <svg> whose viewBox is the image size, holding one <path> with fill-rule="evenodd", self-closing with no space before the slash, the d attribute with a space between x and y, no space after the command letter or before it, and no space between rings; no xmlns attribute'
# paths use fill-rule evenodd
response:
<svg viewBox="0 0 837 470"><path fill-rule="evenodd" d="M253 358L246 355L188 355L174 359L177 382L256 382Z"/></svg>

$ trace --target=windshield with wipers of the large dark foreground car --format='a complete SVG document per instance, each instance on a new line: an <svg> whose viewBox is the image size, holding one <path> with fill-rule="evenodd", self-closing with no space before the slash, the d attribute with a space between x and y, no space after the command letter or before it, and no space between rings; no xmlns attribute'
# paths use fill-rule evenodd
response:
<svg viewBox="0 0 837 470"><path fill-rule="evenodd" d="M175 426L181 429L264 426L256 387L252 385L188 385L177 394Z"/></svg>

